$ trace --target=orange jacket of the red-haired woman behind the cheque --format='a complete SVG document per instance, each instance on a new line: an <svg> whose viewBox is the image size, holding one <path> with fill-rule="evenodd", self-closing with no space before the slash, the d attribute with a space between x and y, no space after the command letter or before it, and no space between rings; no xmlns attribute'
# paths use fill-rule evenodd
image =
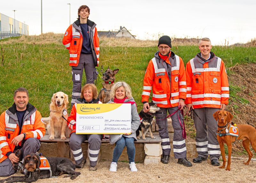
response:
<svg viewBox="0 0 256 183"><path fill-rule="evenodd" d="M78 98L75 101L75 104L73 105L71 112L70 112L70 116L68 116L68 128L71 129L71 133L76 132L76 104L84 104L83 99ZM102 102L100 101L100 99L94 99L92 104L102 104ZM70 133L70 135L71 135Z"/></svg>

